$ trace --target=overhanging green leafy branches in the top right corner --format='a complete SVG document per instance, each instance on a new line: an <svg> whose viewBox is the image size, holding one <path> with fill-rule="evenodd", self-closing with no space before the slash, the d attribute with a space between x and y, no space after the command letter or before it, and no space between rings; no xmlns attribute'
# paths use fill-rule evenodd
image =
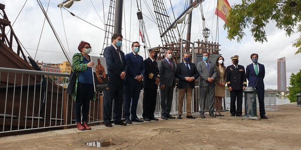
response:
<svg viewBox="0 0 301 150"><path fill-rule="evenodd" d="M236 37L240 42L247 27L251 28L255 41L264 42L267 41L264 27L271 20L288 36L301 32L301 0L242 0L232 6L224 28L230 40ZM301 53L301 34L292 45L298 48L295 54Z"/></svg>

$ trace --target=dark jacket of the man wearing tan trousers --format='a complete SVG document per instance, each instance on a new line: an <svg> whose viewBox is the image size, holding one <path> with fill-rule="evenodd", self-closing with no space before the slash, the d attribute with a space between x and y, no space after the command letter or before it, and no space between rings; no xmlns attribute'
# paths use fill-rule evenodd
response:
<svg viewBox="0 0 301 150"><path fill-rule="evenodd" d="M197 67L194 63L189 63L190 65L190 71L188 70L185 62L181 62L177 65L176 68L176 77L179 78L178 82L178 88L187 88L187 86L190 86L191 88L195 87L195 81L187 81L185 80L186 76L194 77L195 80L199 77L199 72L197 70Z"/></svg>

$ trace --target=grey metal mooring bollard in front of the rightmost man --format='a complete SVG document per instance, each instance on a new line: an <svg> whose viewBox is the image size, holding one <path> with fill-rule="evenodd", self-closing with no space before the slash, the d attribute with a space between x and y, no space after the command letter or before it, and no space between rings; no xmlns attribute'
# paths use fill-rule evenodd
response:
<svg viewBox="0 0 301 150"><path fill-rule="evenodd" d="M256 107L256 93L257 90L254 87L248 86L243 90L245 94L245 115L243 118L259 119L257 116Z"/></svg>

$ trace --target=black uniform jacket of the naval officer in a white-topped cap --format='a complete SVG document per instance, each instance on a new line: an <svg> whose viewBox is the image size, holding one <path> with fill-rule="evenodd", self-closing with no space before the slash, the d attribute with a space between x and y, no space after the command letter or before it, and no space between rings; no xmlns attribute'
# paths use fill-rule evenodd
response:
<svg viewBox="0 0 301 150"><path fill-rule="evenodd" d="M234 90L242 90L242 86L247 86L247 78L244 66L237 65L237 69L234 64L227 66L227 86L232 87Z"/></svg>

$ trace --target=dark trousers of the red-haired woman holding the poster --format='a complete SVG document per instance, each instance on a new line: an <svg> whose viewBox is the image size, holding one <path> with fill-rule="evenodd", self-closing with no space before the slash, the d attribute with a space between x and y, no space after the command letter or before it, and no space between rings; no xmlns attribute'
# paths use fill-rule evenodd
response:
<svg viewBox="0 0 301 150"><path fill-rule="evenodd" d="M75 120L76 122L87 121L90 107L90 100L93 99L94 86L89 83L77 83L77 95L75 101ZM81 118L82 114L82 118Z"/></svg>

